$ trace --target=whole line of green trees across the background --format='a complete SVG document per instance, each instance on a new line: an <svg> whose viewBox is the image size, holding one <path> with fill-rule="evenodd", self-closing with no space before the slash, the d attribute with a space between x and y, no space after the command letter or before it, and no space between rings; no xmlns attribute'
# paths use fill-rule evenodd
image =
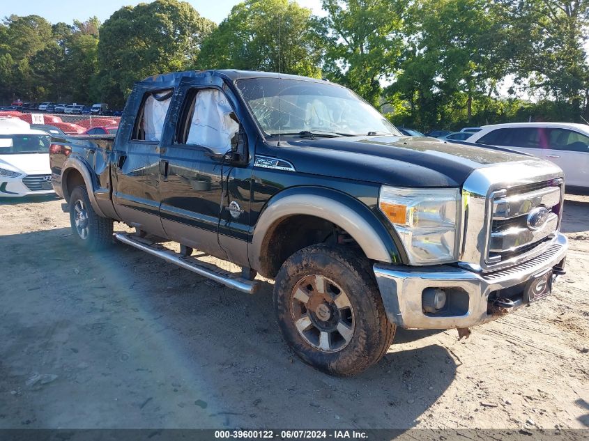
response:
<svg viewBox="0 0 589 441"><path fill-rule="evenodd" d="M588 0L322 5L326 16L314 17L295 0L245 0L218 27L177 0L123 7L102 26L96 17L72 24L5 17L0 104L22 98L122 107L134 82L159 72L280 68L328 77L395 124L423 131L589 120ZM513 85L505 90L505 83Z"/></svg>

